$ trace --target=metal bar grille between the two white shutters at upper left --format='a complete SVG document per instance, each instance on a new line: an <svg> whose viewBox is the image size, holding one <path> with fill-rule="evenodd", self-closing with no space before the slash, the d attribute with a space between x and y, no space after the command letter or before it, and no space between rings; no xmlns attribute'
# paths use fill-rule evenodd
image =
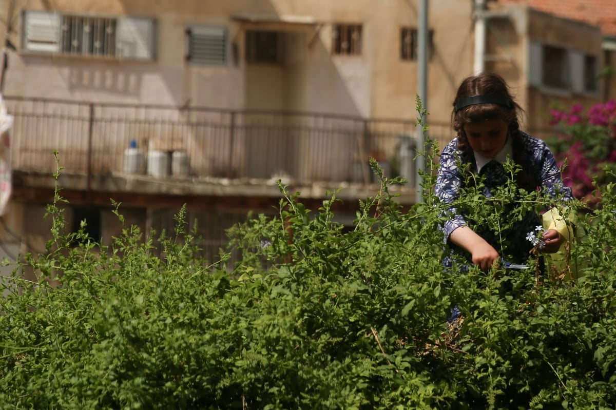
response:
<svg viewBox="0 0 616 410"><path fill-rule="evenodd" d="M63 15L60 52L115 57L117 25L116 18Z"/></svg>

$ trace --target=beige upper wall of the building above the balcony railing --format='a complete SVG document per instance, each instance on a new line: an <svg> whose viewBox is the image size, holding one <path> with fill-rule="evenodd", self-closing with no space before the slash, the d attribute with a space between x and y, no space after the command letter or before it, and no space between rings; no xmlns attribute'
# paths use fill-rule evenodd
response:
<svg viewBox="0 0 616 410"><path fill-rule="evenodd" d="M6 0L5 0L6 1ZM145 1L33 0L22 9L156 18L156 60L104 60L10 55L5 94L94 102L190 104L265 108L377 118L415 118L417 63L400 60L400 27L417 26L417 1ZM15 21L22 9L16 9ZM471 70L471 4L430 2L435 54L429 64L433 121L448 121L453 93ZM310 18L314 24L250 22L238 16ZM331 54L333 23L363 25L362 54ZM233 57L227 66L185 61L185 29L208 24L229 28ZM245 62L243 33L283 30L282 65ZM11 34L19 44L20 25Z"/></svg>

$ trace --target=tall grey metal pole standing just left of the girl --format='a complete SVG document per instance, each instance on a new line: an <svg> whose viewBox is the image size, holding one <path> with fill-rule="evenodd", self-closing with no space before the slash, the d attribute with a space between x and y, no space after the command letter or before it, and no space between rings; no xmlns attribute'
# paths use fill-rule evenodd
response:
<svg viewBox="0 0 616 410"><path fill-rule="evenodd" d="M417 77L417 94L423 102L424 110L428 109L428 0L419 0L419 15L417 24L417 61L418 61L418 77ZM421 115L421 113L419 113ZM426 123L426 116L421 117L423 123ZM422 127L417 127L417 150L424 150L424 135ZM423 171L426 167L425 158L423 155L418 155L416 162L416 177L415 187L417 190L416 203L420 203L422 189L421 183L423 180L419 171Z"/></svg>

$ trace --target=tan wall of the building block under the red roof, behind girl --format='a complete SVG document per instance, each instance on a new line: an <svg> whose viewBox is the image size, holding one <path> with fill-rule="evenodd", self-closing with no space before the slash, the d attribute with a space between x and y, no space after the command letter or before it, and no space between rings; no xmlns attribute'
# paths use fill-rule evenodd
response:
<svg viewBox="0 0 616 410"><path fill-rule="evenodd" d="M569 85L555 89L541 84L538 56L533 44L563 47L570 52L596 56L598 68L603 65L601 30L587 23L538 12L527 6L493 4L487 20L485 68L500 73L508 82L517 102L524 109L522 127L538 137L548 137L549 108L585 107L603 97L604 83L599 81L595 92L576 92ZM545 62L542 62L545 63ZM574 73L570 72L571 77ZM577 78L579 81L580 78Z"/></svg>

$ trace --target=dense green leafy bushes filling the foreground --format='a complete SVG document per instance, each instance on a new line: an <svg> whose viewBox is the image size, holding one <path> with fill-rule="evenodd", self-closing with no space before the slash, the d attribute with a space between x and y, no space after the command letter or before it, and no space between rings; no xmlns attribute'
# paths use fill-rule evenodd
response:
<svg viewBox="0 0 616 410"><path fill-rule="evenodd" d="M4 282L0 407L616 403L613 183L602 191L602 209L578 220L588 240L575 244L570 260L585 262L578 267L585 276L562 283L532 269L462 273L462 260L445 269L432 173L423 174L424 201L403 212L389 192L401 181L371 166L381 188L360 203L351 230L334 222L337 193L310 211L281 186L277 217L258 215L230 232L230 249L243 252L233 266L228 251L219 261L200 259L185 209L176 233L160 235L164 252L156 255L155 235L144 240L136 227L109 248L84 233L63 234L57 195L46 254L25 255L41 279L25 281L16 270ZM492 198L460 201L486 223L500 201L541 206L538 193L514 185ZM119 207L116 214L123 222ZM455 305L463 316L451 320Z"/></svg>

